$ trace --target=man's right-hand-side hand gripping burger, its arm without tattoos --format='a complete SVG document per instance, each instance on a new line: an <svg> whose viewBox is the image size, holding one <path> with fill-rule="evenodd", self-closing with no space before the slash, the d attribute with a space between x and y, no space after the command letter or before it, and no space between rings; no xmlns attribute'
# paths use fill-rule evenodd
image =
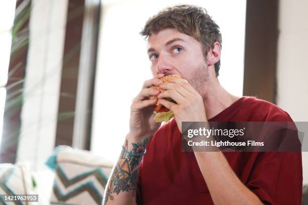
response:
<svg viewBox="0 0 308 205"><path fill-rule="evenodd" d="M170 78L160 87L166 91L158 95L159 102L174 113L181 133L182 122L207 122L203 98L187 80ZM164 98L171 98L177 104Z"/></svg>

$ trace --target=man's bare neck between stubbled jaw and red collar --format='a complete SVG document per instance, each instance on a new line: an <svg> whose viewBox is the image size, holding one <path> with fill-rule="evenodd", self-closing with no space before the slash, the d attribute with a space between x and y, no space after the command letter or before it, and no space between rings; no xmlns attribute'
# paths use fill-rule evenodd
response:
<svg viewBox="0 0 308 205"><path fill-rule="evenodd" d="M224 109L234 104L240 97L227 92L219 83L218 79L214 76L208 81L205 97L203 98L204 108L207 119L211 119Z"/></svg>

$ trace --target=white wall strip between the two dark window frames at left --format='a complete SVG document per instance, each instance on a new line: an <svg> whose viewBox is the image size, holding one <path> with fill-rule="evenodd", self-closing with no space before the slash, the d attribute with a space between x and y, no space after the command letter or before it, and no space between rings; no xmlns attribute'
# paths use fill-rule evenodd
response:
<svg viewBox="0 0 308 205"><path fill-rule="evenodd" d="M17 161L35 169L44 168L55 143L67 3L32 1Z"/></svg>

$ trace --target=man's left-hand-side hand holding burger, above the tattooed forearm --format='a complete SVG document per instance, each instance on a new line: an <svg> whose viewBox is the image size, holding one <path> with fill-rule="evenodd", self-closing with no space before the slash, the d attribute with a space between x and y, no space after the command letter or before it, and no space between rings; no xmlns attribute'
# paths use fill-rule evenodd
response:
<svg viewBox="0 0 308 205"><path fill-rule="evenodd" d="M132 101L128 135L136 140L143 140L152 136L161 125L161 123L154 121L155 114L153 113L153 106L156 105L158 99L148 99L148 97L160 94L158 89L149 87L153 85L159 86L163 83L160 80L162 77L164 77L164 74L161 73L152 79L144 81L141 91Z"/></svg>

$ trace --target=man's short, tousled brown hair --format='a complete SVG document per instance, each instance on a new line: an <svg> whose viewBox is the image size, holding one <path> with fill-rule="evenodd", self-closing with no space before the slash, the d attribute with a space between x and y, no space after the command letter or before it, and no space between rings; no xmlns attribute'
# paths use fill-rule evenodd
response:
<svg viewBox="0 0 308 205"><path fill-rule="evenodd" d="M149 18L140 35L145 39L164 29L176 29L181 33L194 37L202 45L203 56L218 42L221 46L221 33L219 26L202 7L194 5L176 5L160 11ZM216 76L219 74L220 60L215 63Z"/></svg>

